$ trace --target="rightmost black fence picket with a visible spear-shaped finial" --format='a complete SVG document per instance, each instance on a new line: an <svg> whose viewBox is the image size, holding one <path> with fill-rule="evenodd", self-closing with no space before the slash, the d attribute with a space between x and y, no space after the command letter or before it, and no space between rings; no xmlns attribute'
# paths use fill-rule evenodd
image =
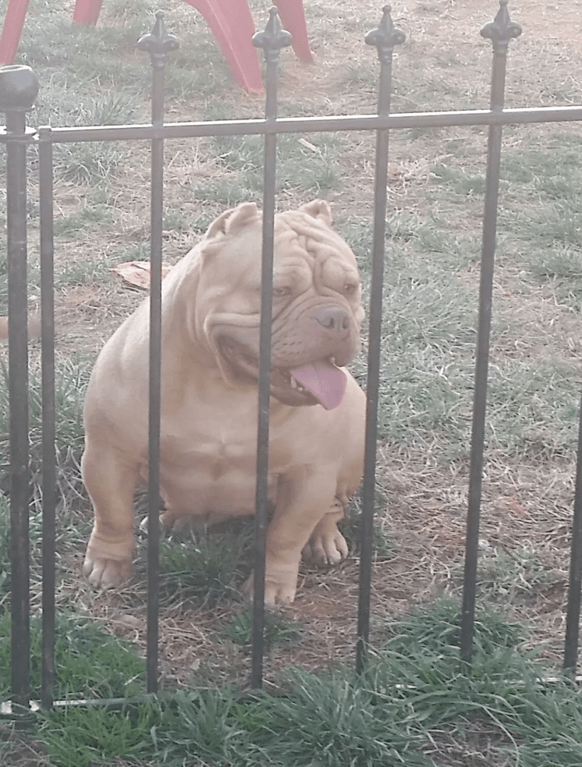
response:
<svg viewBox="0 0 582 767"><path fill-rule="evenodd" d="M505 65L511 38L521 35L521 27L511 21L508 0L501 0L495 21L482 28L484 38L493 43L493 69L491 81L492 112L501 112L505 101ZM483 451L485 443L485 409L487 404L487 377L489 339L493 301L493 269L495 265L495 237L497 232L497 206L499 195L499 167L501 164L501 125L489 127L487 147L487 175L485 178L485 213L481 252L481 278L479 282L479 318L475 360L475 393L473 395L473 421L471 438L471 465L469 468L469 509L465 538L465 576L461 616L461 660L471 663L473 625L475 623L475 593L479 517L481 512L481 486Z"/></svg>

